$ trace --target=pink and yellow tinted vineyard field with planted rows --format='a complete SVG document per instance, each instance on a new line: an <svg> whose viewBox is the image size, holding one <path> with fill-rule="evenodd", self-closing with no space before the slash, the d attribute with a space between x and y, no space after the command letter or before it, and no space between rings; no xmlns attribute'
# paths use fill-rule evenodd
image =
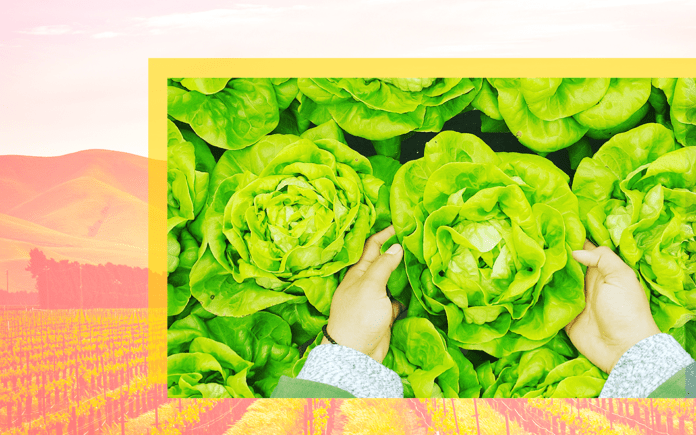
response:
<svg viewBox="0 0 696 435"><path fill-rule="evenodd" d="M696 429L690 399L169 399L163 315L0 311L0 434L648 435Z"/></svg>

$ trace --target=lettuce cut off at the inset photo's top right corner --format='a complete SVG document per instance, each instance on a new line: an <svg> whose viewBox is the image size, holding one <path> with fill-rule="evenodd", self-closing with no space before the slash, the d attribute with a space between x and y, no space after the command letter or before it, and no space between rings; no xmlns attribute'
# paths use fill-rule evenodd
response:
<svg viewBox="0 0 696 435"><path fill-rule="evenodd" d="M696 79L659 78L652 84L657 121L673 129L680 144L696 146Z"/></svg>

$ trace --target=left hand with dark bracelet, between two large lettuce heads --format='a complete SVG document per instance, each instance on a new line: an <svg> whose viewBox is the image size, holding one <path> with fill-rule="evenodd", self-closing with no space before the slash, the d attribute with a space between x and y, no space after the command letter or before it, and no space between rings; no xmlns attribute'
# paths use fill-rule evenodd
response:
<svg viewBox="0 0 696 435"><path fill-rule="evenodd" d="M384 242L394 235L389 227L365 243L363 255L348 270L331 301L327 332L336 343L382 362L389 350L391 327L403 305L387 297L387 281L403 257L400 245L380 255ZM328 344L324 337L321 344Z"/></svg>

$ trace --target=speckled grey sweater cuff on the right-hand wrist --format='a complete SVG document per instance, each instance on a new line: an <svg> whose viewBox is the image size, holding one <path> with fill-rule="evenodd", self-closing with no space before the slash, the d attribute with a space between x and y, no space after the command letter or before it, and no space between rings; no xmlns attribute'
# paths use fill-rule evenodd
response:
<svg viewBox="0 0 696 435"><path fill-rule="evenodd" d="M648 397L693 362L693 358L671 335L653 335L639 341L621 356L599 397Z"/></svg>

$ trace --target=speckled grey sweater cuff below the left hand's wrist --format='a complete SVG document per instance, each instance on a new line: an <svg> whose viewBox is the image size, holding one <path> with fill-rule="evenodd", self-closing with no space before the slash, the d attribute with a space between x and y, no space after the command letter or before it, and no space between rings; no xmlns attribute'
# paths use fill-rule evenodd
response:
<svg viewBox="0 0 696 435"><path fill-rule="evenodd" d="M312 349L297 378L332 385L358 398L404 397L396 372L339 344L322 344Z"/></svg>

